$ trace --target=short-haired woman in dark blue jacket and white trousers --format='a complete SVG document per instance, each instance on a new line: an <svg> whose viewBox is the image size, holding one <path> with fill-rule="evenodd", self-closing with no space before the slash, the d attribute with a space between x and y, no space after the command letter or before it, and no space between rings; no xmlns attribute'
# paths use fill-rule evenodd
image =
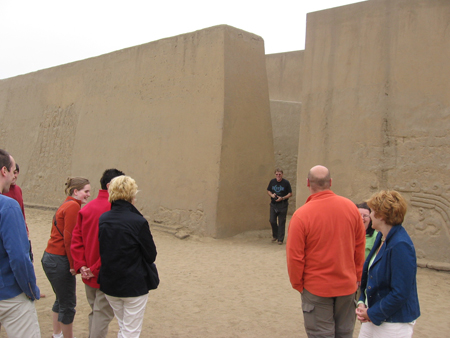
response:
<svg viewBox="0 0 450 338"><path fill-rule="evenodd" d="M420 316L414 244L401 225L406 201L394 190L380 191L367 204L379 233L364 263L356 309L359 337L412 337Z"/></svg>

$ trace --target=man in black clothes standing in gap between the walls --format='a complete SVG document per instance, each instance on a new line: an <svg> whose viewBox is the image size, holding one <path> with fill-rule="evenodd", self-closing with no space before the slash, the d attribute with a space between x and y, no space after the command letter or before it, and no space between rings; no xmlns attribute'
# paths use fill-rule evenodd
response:
<svg viewBox="0 0 450 338"><path fill-rule="evenodd" d="M267 186L270 196L270 225L272 226L272 242L283 244L286 226L288 199L292 196L291 184L283 178L283 170L275 169L275 178ZM278 224L277 224L278 218Z"/></svg>

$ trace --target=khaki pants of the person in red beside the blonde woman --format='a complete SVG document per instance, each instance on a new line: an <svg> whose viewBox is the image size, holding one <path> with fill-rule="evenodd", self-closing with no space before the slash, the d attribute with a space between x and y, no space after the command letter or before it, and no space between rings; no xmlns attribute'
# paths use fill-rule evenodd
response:
<svg viewBox="0 0 450 338"><path fill-rule="evenodd" d="M87 301L92 309L89 314L89 338L106 338L114 311L102 291L86 284L84 286Z"/></svg>

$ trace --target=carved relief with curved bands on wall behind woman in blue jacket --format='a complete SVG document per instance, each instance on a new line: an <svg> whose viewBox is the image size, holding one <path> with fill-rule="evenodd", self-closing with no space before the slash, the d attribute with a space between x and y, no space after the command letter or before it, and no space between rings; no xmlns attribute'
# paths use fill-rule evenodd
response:
<svg viewBox="0 0 450 338"><path fill-rule="evenodd" d="M450 262L450 186L422 187L412 181L395 187L409 200L404 227L417 251L417 258Z"/></svg>

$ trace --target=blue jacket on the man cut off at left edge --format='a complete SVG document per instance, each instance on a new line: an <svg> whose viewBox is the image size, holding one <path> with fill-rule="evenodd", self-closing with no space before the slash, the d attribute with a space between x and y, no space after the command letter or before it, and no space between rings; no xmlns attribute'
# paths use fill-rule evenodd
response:
<svg viewBox="0 0 450 338"><path fill-rule="evenodd" d="M22 292L31 300L39 299L29 253L30 243L19 203L0 194L0 300Z"/></svg>

